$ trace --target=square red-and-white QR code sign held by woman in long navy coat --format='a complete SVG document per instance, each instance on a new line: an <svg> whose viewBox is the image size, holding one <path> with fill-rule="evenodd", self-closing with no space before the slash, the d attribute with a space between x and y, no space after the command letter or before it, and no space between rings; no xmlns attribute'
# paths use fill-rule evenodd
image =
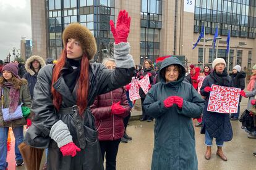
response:
<svg viewBox="0 0 256 170"><path fill-rule="evenodd" d="M211 89L213 91L210 93L207 111L237 113L241 89L215 84L211 86Z"/></svg>

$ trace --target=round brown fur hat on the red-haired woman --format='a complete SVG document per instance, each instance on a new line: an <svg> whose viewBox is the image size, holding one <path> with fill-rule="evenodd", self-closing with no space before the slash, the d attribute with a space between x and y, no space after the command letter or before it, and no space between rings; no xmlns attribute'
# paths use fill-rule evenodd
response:
<svg viewBox="0 0 256 170"><path fill-rule="evenodd" d="M88 59L93 59L97 51L96 41L90 30L80 23L70 23L62 33L64 46L67 45L67 39L74 38L80 42L83 51L86 52Z"/></svg>

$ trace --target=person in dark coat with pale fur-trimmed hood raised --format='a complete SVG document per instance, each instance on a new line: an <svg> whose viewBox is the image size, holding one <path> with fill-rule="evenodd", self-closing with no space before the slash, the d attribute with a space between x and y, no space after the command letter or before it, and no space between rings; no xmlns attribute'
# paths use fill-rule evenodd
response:
<svg viewBox="0 0 256 170"><path fill-rule="evenodd" d="M42 67L45 67L45 60L43 60L43 58L38 55L29 57L25 63L25 69L27 73L23 75L23 78L27 79L28 81L28 89L32 100L34 87L37 81L37 75Z"/></svg>

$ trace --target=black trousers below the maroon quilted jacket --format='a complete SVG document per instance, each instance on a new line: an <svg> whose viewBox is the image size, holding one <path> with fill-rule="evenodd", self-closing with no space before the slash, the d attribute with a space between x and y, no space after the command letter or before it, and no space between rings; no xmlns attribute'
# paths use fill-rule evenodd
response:
<svg viewBox="0 0 256 170"><path fill-rule="evenodd" d="M100 141L103 162L106 153L106 170L116 170L116 156L120 141L121 139Z"/></svg>

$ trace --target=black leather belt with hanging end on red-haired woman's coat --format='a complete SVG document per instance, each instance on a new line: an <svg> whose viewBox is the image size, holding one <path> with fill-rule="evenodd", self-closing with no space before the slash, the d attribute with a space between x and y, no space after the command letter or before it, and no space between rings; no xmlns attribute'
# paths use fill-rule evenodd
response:
<svg viewBox="0 0 256 170"><path fill-rule="evenodd" d="M90 111L90 107L85 109L86 111ZM77 139L79 140L79 147L84 149L86 146L85 140L85 132L83 129L83 119L79 115L79 108L77 105L66 108L59 108L58 114L70 114L72 115L75 123L75 131L77 132Z"/></svg>

